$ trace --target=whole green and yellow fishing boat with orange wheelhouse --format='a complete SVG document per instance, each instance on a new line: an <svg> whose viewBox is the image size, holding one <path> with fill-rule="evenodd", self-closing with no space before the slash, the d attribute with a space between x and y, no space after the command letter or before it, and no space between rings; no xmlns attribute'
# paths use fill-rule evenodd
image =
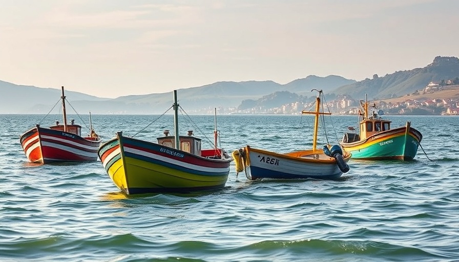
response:
<svg viewBox="0 0 459 262"><path fill-rule="evenodd" d="M376 110L373 103L371 114L368 113L368 101L360 101L359 133L345 133L341 146L352 155L353 159L362 160L413 160L418 152L422 134L405 126L391 129L391 121L382 119L381 110ZM349 127L352 130L354 128ZM354 129L355 130L355 129Z"/></svg>

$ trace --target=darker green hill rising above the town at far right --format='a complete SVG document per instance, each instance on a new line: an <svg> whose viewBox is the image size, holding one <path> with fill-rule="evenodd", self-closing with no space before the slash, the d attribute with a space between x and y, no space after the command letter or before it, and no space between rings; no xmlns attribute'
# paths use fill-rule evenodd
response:
<svg viewBox="0 0 459 262"><path fill-rule="evenodd" d="M372 79L365 79L338 88L338 95L350 95L354 99L363 99L365 94L371 99L387 99L410 94L425 88L433 81L454 79L459 76L459 59L457 57L437 56L424 68L397 71L393 74Z"/></svg>

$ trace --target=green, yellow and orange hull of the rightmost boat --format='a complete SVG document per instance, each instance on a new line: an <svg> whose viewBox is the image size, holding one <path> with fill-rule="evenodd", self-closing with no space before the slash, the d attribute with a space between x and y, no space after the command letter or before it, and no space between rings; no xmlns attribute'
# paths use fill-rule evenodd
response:
<svg viewBox="0 0 459 262"><path fill-rule="evenodd" d="M413 160L422 140L415 128L399 127L390 129L353 143L341 146L353 159L362 160Z"/></svg>

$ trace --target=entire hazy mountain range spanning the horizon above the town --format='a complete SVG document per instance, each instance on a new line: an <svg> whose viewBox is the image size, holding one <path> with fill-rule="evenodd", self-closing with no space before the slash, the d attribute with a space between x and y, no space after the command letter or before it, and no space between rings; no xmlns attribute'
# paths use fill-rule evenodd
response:
<svg viewBox="0 0 459 262"><path fill-rule="evenodd" d="M179 89L178 102L189 114L205 114L220 108L231 113L236 108L280 106L314 97L312 89L323 90L329 99L347 96L351 99L387 99L412 94L429 82L441 82L459 77L459 59L437 56L424 68L397 71L384 77L356 80L329 75L309 75L286 84L273 81L216 82L203 86ZM47 114L60 97L59 89L17 85L0 81L0 114ZM286 92L286 93L285 93ZM130 95L115 99L99 98L66 91L66 96L80 113L87 114L162 114L172 105L172 92L148 95ZM327 99L328 99L327 98ZM234 112L234 111L233 111Z"/></svg>

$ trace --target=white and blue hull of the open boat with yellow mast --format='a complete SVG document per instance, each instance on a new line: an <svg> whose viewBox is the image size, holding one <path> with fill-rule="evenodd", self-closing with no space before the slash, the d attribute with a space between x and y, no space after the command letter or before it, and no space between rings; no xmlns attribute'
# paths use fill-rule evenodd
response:
<svg viewBox="0 0 459 262"><path fill-rule="evenodd" d="M256 179L337 179L343 172L336 159L326 156L323 150L296 151L287 154L246 146L246 177ZM350 156L343 157L347 162Z"/></svg>

